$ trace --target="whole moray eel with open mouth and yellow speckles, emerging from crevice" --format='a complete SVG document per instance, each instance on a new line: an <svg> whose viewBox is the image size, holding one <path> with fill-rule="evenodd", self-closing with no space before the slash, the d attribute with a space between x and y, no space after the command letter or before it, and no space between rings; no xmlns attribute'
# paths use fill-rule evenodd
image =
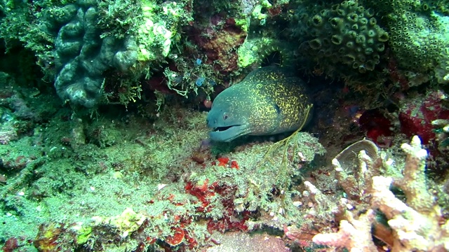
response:
<svg viewBox="0 0 449 252"><path fill-rule="evenodd" d="M304 81L286 69L256 69L215 97L207 117L213 141L300 130L311 117Z"/></svg>

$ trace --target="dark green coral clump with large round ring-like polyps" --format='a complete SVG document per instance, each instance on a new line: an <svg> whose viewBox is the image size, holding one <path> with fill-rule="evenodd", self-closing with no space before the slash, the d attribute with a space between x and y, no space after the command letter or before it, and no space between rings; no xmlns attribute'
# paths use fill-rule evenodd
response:
<svg viewBox="0 0 449 252"><path fill-rule="evenodd" d="M348 0L323 9L307 20L307 34L311 36L308 44L324 71L332 73L337 63L360 73L374 69L389 35L377 25L373 15L372 10Z"/></svg>

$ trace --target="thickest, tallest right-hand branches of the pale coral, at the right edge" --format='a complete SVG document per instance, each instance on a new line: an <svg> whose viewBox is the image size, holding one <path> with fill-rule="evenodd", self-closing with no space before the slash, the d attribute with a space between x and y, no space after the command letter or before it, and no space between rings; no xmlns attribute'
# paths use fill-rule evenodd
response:
<svg viewBox="0 0 449 252"><path fill-rule="evenodd" d="M373 178L372 204L385 214L394 230L392 251L448 251L449 223L426 186L427 151L421 148L418 137L401 148L407 154L403 179ZM389 190L391 184L403 190L406 203Z"/></svg>

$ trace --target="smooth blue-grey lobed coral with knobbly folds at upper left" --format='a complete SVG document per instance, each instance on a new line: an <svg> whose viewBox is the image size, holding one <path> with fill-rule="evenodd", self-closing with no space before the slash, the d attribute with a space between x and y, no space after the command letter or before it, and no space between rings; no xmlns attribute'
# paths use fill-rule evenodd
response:
<svg viewBox="0 0 449 252"><path fill-rule="evenodd" d="M62 99L91 108L102 92L103 71L112 66L126 71L137 61L138 48L131 36L100 38L95 6L79 1L63 9L69 22L55 38L55 89Z"/></svg>

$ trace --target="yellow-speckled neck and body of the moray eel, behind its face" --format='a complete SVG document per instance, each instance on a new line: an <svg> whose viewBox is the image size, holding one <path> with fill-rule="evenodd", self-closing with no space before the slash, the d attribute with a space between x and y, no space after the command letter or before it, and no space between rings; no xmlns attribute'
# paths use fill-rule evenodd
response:
<svg viewBox="0 0 449 252"><path fill-rule="evenodd" d="M241 83L229 87L227 100L241 106L230 111L250 125L252 135L276 134L304 126L311 113L311 101L304 82L293 74L268 66L257 69ZM229 90L231 91L231 90Z"/></svg>

